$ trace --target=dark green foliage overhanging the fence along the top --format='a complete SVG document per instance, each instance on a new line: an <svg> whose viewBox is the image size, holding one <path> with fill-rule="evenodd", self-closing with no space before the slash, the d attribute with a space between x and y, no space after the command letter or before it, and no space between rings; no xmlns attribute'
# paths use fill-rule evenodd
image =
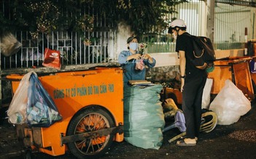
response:
<svg viewBox="0 0 256 159"><path fill-rule="evenodd" d="M137 35L166 28L165 14L187 0L3 0L0 2L1 33L29 30L38 33L54 30L85 31L101 29L97 23L125 22ZM10 13L7 14L7 11Z"/></svg>

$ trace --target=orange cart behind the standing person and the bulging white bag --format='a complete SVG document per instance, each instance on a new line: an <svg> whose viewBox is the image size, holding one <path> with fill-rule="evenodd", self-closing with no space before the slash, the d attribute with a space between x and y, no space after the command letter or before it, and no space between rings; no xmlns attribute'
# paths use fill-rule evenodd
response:
<svg viewBox="0 0 256 159"><path fill-rule="evenodd" d="M212 99L223 88L225 81L229 79L252 102L255 99L256 73L250 73L249 62L251 60L252 57L227 57L214 61L214 71L208 74L208 78L213 79ZM164 95L168 97L168 94L174 94L176 104L182 104L182 93L179 89L166 88Z"/></svg>

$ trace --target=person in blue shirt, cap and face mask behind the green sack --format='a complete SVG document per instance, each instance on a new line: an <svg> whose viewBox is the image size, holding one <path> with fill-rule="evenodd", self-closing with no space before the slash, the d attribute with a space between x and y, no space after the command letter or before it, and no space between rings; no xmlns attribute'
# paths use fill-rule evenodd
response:
<svg viewBox="0 0 256 159"><path fill-rule="evenodd" d="M155 66L155 59L150 57L150 54L139 54L139 38L136 36L131 36L127 39L128 51L123 51L119 54L118 62L123 67L124 70L124 86L128 86L128 81L130 80L145 80L146 78L146 68ZM138 63L136 65L136 63Z"/></svg>

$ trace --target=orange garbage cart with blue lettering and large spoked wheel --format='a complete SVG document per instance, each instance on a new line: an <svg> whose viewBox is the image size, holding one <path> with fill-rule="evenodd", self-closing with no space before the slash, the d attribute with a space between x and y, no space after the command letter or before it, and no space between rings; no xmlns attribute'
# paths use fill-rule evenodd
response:
<svg viewBox="0 0 256 159"><path fill-rule="evenodd" d="M63 119L48 128L17 125L25 147L77 158L102 155L113 141L123 141L123 70L94 68L37 74ZM9 75L16 91L23 75Z"/></svg>

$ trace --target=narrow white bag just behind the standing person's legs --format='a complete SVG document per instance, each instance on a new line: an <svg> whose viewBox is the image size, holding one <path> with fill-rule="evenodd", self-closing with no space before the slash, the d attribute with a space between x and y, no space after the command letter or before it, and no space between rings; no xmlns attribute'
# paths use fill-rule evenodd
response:
<svg viewBox="0 0 256 159"><path fill-rule="evenodd" d="M206 79L206 84L203 88L202 109L209 110L209 105L211 101L212 82L213 82L212 78Z"/></svg>

